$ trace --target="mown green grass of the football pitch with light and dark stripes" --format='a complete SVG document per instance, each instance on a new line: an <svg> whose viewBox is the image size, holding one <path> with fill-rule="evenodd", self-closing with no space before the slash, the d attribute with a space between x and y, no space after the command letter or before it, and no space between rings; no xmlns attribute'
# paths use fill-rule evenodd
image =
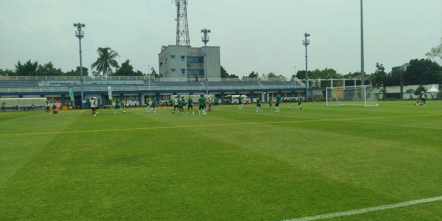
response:
<svg viewBox="0 0 442 221"><path fill-rule="evenodd" d="M280 221L441 196L442 102L427 103L1 112L0 220ZM441 207L332 220L442 220Z"/></svg>

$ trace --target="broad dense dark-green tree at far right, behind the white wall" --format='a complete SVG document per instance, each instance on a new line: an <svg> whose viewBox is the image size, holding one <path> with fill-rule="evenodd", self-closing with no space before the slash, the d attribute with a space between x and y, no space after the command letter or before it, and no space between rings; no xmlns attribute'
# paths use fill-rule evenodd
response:
<svg viewBox="0 0 442 221"><path fill-rule="evenodd" d="M442 82L442 67L430 59L410 60L410 66L403 74L404 85L438 82Z"/></svg>

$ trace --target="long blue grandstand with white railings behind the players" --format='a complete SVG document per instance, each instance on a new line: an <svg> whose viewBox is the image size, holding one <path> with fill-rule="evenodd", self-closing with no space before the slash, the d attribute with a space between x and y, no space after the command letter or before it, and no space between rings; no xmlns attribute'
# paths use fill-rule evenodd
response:
<svg viewBox="0 0 442 221"><path fill-rule="evenodd" d="M86 104L92 97L99 99L99 104L104 106L108 98L108 86L112 87L113 97L121 100L137 101L144 105L145 97L156 96L159 104L168 99L168 96L180 93L197 94L205 92L204 79L165 79L145 76L113 76L113 77L84 77L83 91ZM42 98L50 99L51 103L71 102L69 87L74 89L75 106L81 105L80 77L78 76L1 76L0 98ZM264 92L294 95L303 92L305 84L297 78L286 80L283 78L213 78L208 79L209 93L221 99L224 95L246 94L253 102L253 94L261 94L263 101L267 101Z"/></svg>

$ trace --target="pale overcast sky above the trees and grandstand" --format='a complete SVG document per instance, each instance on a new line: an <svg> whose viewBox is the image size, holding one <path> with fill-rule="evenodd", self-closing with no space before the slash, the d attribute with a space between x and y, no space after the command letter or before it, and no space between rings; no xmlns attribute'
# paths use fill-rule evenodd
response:
<svg viewBox="0 0 442 221"><path fill-rule="evenodd" d="M190 42L201 47L201 28L212 30L209 46L221 47L229 74L305 70L304 32L311 34L308 69L360 70L359 0L189 0ZM365 71L376 62L387 71L425 53L442 36L442 0L364 0ZM79 66L74 23L85 23L83 66L111 47L135 70L158 71L162 45L176 42L171 0L0 0L0 68L17 61L52 61L69 71Z"/></svg>

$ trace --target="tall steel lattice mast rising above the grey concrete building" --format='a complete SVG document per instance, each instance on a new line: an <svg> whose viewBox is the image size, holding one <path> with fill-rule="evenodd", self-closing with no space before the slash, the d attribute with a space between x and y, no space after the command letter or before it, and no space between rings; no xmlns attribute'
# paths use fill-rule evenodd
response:
<svg viewBox="0 0 442 221"><path fill-rule="evenodd" d="M190 47L189 26L187 23L187 0L172 0L176 5L176 45Z"/></svg>

